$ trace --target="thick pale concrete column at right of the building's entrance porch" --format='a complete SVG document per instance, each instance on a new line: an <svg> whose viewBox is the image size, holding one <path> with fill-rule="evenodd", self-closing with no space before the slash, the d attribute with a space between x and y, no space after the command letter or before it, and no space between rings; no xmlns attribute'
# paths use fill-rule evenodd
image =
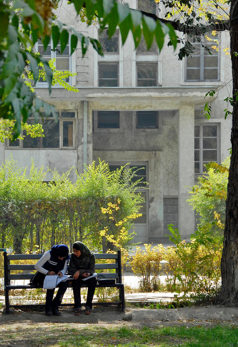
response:
<svg viewBox="0 0 238 347"><path fill-rule="evenodd" d="M178 120L178 229L189 241L194 232L194 211L186 202L194 185L194 105L180 103Z"/></svg>

